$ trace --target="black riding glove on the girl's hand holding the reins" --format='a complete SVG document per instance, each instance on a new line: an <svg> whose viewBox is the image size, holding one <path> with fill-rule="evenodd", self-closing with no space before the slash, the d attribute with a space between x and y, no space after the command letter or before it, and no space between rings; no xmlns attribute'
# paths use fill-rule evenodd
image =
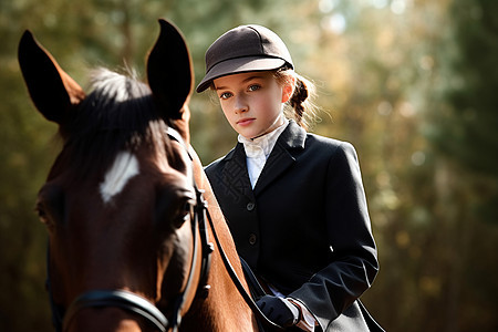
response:
<svg viewBox="0 0 498 332"><path fill-rule="evenodd" d="M264 295L256 304L270 321L282 328L292 326L299 321L299 309L287 299Z"/></svg>

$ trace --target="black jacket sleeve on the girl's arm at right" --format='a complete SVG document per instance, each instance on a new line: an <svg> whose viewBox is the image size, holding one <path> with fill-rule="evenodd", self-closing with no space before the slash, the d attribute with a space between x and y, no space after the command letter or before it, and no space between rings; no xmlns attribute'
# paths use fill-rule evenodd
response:
<svg viewBox="0 0 498 332"><path fill-rule="evenodd" d="M323 331L366 289L377 271L376 247L354 147L332 153L325 184L325 219L331 261L291 292L318 319Z"/></svg>

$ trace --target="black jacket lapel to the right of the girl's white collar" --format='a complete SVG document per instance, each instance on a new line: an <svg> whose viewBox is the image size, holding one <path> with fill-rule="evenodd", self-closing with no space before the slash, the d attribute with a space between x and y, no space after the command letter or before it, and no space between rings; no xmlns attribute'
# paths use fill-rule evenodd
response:
<svg viewBox="0 0 498 332"><path fill-rule="evenodd" d="M295 122L290 121L273 147L255 187L255 195L264 190L277 177L295 162L297 152L304 149L307 132ZM243 153L243 149L242 149ZM247 169L247 166L245 166ZM247 170L246 170L247 174Z"/></svg>

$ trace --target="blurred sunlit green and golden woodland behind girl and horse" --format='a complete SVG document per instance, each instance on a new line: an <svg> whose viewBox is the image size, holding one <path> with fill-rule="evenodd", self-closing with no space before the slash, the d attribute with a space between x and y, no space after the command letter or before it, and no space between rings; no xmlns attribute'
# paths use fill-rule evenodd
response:
<svg viewBox="0 0 498 332"><path fill-rule="evenodd" d="M46 234L33 212L60 148L17 62L30 29L85 86L89 69L133 68L173 20L204 52L242 23L274 30L319 92L312 132L357 149L381 272L363 297L387 331L498 331L498 1L0 0L0 330L52 331ZM203 163L236 135L194 95Z"/></svg>

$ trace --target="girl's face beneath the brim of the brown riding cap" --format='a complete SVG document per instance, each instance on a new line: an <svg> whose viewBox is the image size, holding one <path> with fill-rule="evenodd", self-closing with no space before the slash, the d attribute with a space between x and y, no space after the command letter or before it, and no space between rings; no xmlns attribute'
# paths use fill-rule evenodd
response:
<svg viewBox="0 0 498 332"><path fill-rule="evenodd" d="M270 133L283 124L282 103L292 95L272 72L249 72L214 80L221 108L234 129L246 138Z"/></svg>

